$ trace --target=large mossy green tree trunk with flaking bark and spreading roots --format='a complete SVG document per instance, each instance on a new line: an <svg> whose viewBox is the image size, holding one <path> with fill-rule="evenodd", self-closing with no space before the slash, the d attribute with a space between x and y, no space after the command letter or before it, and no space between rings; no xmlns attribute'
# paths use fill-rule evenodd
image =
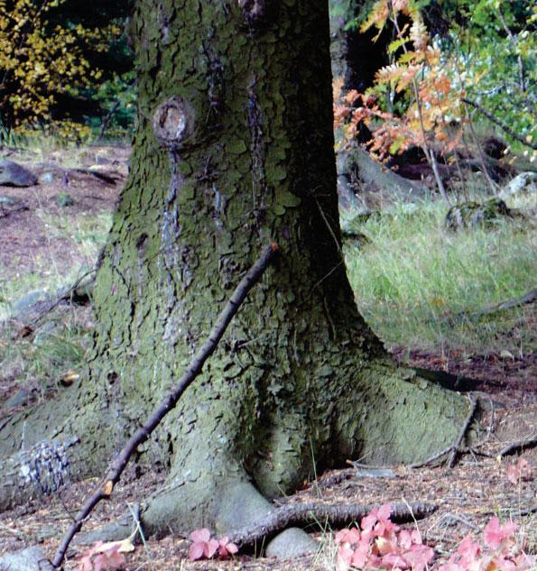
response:
<svg viewBox="0 0 537 571"><path fill-rule="evenodd" d="M270 498L314 464L416 461L452 443L467 403L393 365L347 281L325 0L139 0L134 35L139 125L98 272L88 374L0 429L0 503L57 487L68 465L100 474L272 241L275 266L139 451L169 469L146 530L235 527L268 509L249 482ZM36 479L25 466L43 435L55 469L38 463Z"/></svg>

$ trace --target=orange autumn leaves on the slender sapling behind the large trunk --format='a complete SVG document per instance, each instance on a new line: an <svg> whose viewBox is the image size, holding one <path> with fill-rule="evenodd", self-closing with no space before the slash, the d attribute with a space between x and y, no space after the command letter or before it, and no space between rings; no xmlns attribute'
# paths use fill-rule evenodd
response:
<svg viewBox="0 0 537 571"><path fill-rule="evenodd" d="M411 20L403 28L398 14ZM464 115L460 106L462 91L452 80L455 69L442 58L440 47L431 45L431 37L415 3L410 0L378 0L363 26L382 29L391 20L398 37L388 51L396 59L375 74L375 87L366 94L349 92L342 96L342 83L335 89L335 126L352 140L363 123L373 134L369 150L384 160L389 154L412 146L434 148L449 154L460 143ZM410 46L412 45L412 50ZM390 111L371 103L369 92L390 97ZM400 94L393 105L393 94ZM360 106L360 102L362 106ZM406 104L405 104L406 102ZM393 110L392 110L393 109Z"/></svg>

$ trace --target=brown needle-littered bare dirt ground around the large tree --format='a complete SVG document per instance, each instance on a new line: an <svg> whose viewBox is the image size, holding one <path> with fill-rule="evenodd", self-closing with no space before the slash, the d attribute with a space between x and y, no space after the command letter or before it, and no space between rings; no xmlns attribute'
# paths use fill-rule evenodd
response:
<svg viewBox="0 0 537 571"><path fill-rule="evenodd" d="M53 213L61 208L55 198L61 191L69 192L75 200L75 204L69 207L72 209L62 210L67 212L66 216L113 209L125 180L128 149L102 148L91 153L92 156L81 161L79 159L77 164L76 168L85 171L73 170L73 167L67 170L67 179L60 176L50 183L30 189L0 187L0 195L21 198L23 202L19 204L27 207L10 213L0 211L2 272L32 271L39 251L43 258L53 256L66 267L79 262L73 258L67 239L51 240L50 232L43 226L42 219L38 219L36 211L41 208ZM13 155L9 158L18 160L16 153ZM97 178L88 170L90 166L99 164L99 161L103 166L102 173L110 180ZM47 169L51 169L50 165L43 167L43 171ZM79 311L88 313L88 308ZM91 319L89 316L86 318ZM16 341L12 338L10 342ZM537 448L522 452L521 456L528 461L530 467L523 473L518 484L512 484L506 478L506 469L516 462L517 455L501 459L496 456L503 447L537 434L537 356L528 354L523 358L503 358L491 353L468 357L456 352L433 355L403 347L395 349L393 355L395 359L413 366L448 371L478 381L473 394L486 408L481 419L486 436L477 452L488 456L465 454L459 457L458 464L452 469L445 466L417 469L394 466L393 475L382 478L360 476L356 474L356 469L347 466L339 471L319 474L316 482L304 484L300 492L282 499L282 503L433 503L438 506L438 510L417 525L424 540L440 555L453 552L469 531L482 529L493 515L498 514L523 526L529 539L528 548L535 552ZM14 391L13 380L0 370L0 402L9 398ZM5 410L3 413L5 416ZM352 460L366 463L366 459ZM164 474L153 472L134 477L134 474L127 471L125 481L117 486L112 501L101 503L84 529L97 529L104 522L124 514L127 504L133 506L143 501L148 493L162 483L163 477ZM0 513L0 555L37 544L48 557L52 557L73 514L78 511L94 485L95 481L70 484L55 496L35 498L26 505ZM230 561L191 563L187 560L189 542L184 538L170 536L158 541L147 539L134 553L127 554L125 571L238 568L283 571L333 568L334 549L330 548L329 535L322 533L319 525L313 526L310 531L321 540L323 547L320 553L315 557L289 561L239 554ZM66 568L77 568L76 556L83 549L77 546L69 549Z"/></svg>

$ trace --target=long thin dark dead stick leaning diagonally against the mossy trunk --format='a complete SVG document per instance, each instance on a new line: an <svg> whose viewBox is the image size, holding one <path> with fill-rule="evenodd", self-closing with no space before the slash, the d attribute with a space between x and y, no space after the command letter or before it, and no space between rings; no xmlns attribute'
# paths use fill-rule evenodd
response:
<svg viewBox="0 0 537 571"><path fill-rule="evenodd" d="M255 286L257 281L259 281L279 249L278 244L274 243L269 244L264 248L264 251L257 262L255 262L252 268L246 273L245 277L237 285L233 295L227 301L226 307L222 309L222 312L218 316L217 322L208 335L207 341L201 346L198 353L194 356L189 367L182 374L179 382L173 385L171 391L169 391L164 397L159 407L153 411L151 417L149 417L142 427L136 430L119 455L116 456L116 459L108 465L108 472L106 473L104 480L101 481L97 490L88 498L88 501L79 511L68 532L62 539L60 547L52 561L52 566L59 567L61 565L71 540L81 529L84 520L86 520L98 502L101 500L108 500L110 498L112 491L114 490L114 485L119 481L119 478L125 470L129 458L133 455L136 447L143 444L151 436L151 433L155 428L157 428L161 420L175 407L181 398L182 393L187 390L194 379L196 379L199 373L201 373L203 365L217 348L218 342L224 335L231 320L235 317L236 312L245 300L248 292Z"/></svg>

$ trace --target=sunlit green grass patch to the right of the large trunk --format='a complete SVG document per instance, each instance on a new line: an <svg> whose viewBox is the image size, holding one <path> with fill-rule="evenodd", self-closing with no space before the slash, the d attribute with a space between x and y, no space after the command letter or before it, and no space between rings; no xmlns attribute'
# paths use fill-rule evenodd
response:
<svg viewBox="0 0 537 571"><path fill-rule="evenodd" d="M443 229L440 202L395 207L356 229L365 245L347 241L347 270L357 304L387 345L468 352L534 349L532 308L479 319L472 313L537 286L537 236L528 224L458 234ZM530 321L530 323L527 323Z"/></svg>

